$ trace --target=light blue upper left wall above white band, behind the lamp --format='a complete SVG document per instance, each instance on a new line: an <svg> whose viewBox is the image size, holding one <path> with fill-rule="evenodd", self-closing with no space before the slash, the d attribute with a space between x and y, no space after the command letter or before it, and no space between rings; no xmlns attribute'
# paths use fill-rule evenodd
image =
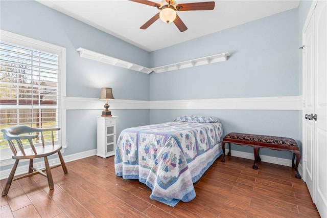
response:
<svg viewBox="0 0 327 218"><path fill-rule="evenodd" d="M109 86L118 99L149 100L149 76L85 59L79 47L149 66L149 53L35 1L1 1L1 29L66 48L69 97L98 98ZM139 84L139 85L134 85Z"/></svg>

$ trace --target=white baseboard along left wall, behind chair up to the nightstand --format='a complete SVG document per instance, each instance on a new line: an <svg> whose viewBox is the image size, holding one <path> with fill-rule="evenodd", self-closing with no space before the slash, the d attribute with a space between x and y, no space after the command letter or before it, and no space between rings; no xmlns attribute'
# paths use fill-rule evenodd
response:
<svg viewBox="0 0 327 218"><path fill-rule="evenodd" d="M63 156L63 159L64 159L65 163L68 163L68 162L79 160L82 158L94 156L96 154L97 154L97 149L93 149L93 150L87 150L87 151L80 152L80 153L73 154L73 155ZM9 163L9 162L11 162L11 165L13 165L15 161L13 159L11 159L10 161L9 160L7 161L7 163ZM60 164L60 160L59 160L59 158L49 159L49 164L50 164L50 166ZM39 168L39 169L44 169L45 168L44 162L41 161L41 162L35 163L34 167ZM16 169L16 172L15 172L15 176L27 173L28 169L29 169L28 164L25 164L23 166L18 166ZM11 168L0 171L0 180L7 179L9 177L10 171L11 171ZM68 171L69 171L69 169L68 169Z"/></svg>

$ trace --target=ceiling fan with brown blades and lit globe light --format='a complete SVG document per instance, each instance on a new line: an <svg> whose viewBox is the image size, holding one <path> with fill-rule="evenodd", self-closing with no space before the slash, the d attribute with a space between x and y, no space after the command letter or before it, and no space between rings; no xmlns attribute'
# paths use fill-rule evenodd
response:
<svg viewBox="0 0 327 218"><path fill-rule="evenodd" d="M174 22L180 32L184 32L188 28L185 26L183 21L180 19L176 11L200 11L200 10L214 10L215 2L197 2L197 3L184 3L178 4L174 0L163 0L160 3L155 3L147 0L129 0L145 5L156 7L160 10L156 15L150 18L140 29L147 29L157 19L161 19L165 23Z"/></svg>

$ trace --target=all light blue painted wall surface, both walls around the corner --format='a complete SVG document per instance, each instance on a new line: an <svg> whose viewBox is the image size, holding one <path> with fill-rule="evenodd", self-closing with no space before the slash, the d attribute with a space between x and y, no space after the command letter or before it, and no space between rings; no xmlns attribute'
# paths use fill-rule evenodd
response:
<svg viewBox="0 0 327 218"><path fill-rule="evenodd" d="M310 4L309 4L310 3ZM98 98L110 86L116 99L179 100L301 95L301 30L311 2L298 9L148 53L34 1L0 1L0 27L67 49L67 96ZM229 52L225 62L150 75L79 57L83 47L146 67ZM173 54L173 55L171 55ZM137 85L135 85L137 84ZM98 110L67 111L64 155L96 148ZM112 110L122 129L166 122L184 114L217 116L225 134L246 132L294 138L301 147L300 111ZM252 152L250 148L233 149ZM280 157L275 151L262 154ZM288 152L282 157L290 158Z"/></svg>

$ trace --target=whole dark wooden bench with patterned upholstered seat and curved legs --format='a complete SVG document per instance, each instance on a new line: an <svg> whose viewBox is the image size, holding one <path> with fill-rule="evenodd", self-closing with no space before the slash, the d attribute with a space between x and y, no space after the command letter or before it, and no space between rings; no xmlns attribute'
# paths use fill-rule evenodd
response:
<svg viewBox="0 0 327 218"><path fill-rule="evenodd" d="M301 179L301 175L297 170L298 164L301 159L301 153L294 139L286 137L276 137L276 136L262 136L262 135L252 135L244 133L229 133L227 134L222 142L223 149L223 159L221 162L225 162L225 143L229 145L228 156L230 156L230 143L237 145L249 145L253 147L254 152L254 163L252 168L258 169L258 162L261 161L259 156L260 148L270 148L273 150L289 150L293 152L292 158L292 168L295 168L295 177ZM296 163L294 164L294 159L296 155Z"/></svg>

